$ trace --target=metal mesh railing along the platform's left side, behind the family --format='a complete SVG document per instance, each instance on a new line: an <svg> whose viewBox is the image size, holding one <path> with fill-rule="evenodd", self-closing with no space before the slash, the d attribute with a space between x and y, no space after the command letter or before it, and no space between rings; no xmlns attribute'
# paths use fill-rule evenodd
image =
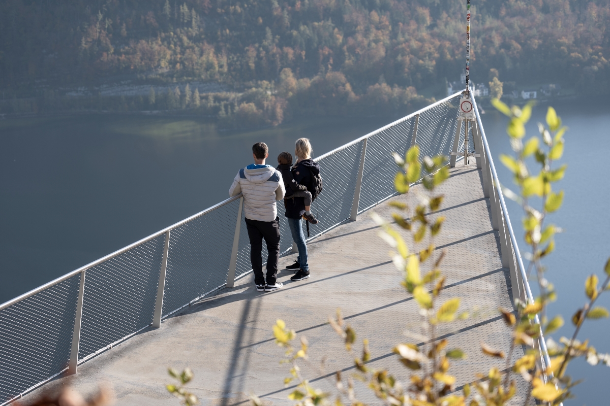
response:
<svg viewBox="0 0 610 406"><path fill-rule="evenodd" d="M422 156L448 155L458 97L454 94L320 156L324 191L314 202L319 223L310 226L311 238L395 194L397 167L391 153L404 155L414 134ZM463 144L462 129L459 147ZM242 197L225 200L0 305L2 405L68 365L75 372L78 363L151 324L158 326L161 318L248 274L242 208ZM285 253L292 238L283 211L279 204L280 248ZM265 245L263 251L265 261Z"/></svg>

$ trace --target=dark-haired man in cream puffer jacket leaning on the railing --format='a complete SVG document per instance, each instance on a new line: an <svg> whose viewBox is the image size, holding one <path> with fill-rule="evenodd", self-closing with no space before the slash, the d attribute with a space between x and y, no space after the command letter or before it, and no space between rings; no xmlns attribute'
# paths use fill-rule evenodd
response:
<svg viewBox="0 0 610 406"><path fill-rule="evenodd" d="M271 292L282 287L276 281L279 260L279 217L276 200L284 198L282 174L273 166L265 165L269 149L264 142L252 147L254 164L240 169L233 180L229 195L243 194L246 228L250 238L250 261L254 271L256 290ZM263 239L267 243L267 280L263 273Z"/></svg>

